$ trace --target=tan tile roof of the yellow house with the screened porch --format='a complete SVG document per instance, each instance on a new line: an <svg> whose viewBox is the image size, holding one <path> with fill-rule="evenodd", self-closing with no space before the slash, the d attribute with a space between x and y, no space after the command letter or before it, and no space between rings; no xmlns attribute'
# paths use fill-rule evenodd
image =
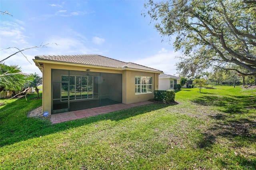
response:
<svg viewBox="0 0 256 170"><path fill-rule="evenodd" d="M130 69L140 69L147 71L157 71L163 72L157 69L153 69L150 67L146 67L143 65L138 65L135 63L126 63L123 61L119 61L116 59L112 59L109 57L104 57L102 55L97 54L86 54L86 55L40 55L35 56L36 60L43 61L56 61L56 62L64 62L64 63L77 63L84 65L94 65L100 67L112 67L112 68L130 68Z"/></svg>

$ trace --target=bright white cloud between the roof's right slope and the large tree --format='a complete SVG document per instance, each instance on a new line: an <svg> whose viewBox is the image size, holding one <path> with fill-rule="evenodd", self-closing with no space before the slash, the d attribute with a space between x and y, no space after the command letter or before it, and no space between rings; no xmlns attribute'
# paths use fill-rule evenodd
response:
<svg viewBox="0 0 256 170"><path fill-rule="evenodd" d="M135 59L132 62L161 70L166 74L177 75L175 64L178 63L179 60L175 57L179 55L181 55L180 52L169 51L162 48L155 55L151 55L143 59Z"/></svg>

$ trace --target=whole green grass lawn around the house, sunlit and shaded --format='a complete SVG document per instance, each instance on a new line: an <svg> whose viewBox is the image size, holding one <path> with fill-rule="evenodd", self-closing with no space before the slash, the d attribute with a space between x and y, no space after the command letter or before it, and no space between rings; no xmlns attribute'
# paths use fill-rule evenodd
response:
<svg viewBox="0 0 256 170"><path fill-rule="evenodd" d="M0 106L0 169L256 169L256 89L214 88L54 125L27 117L36 94L12 99Z"/></svg>

